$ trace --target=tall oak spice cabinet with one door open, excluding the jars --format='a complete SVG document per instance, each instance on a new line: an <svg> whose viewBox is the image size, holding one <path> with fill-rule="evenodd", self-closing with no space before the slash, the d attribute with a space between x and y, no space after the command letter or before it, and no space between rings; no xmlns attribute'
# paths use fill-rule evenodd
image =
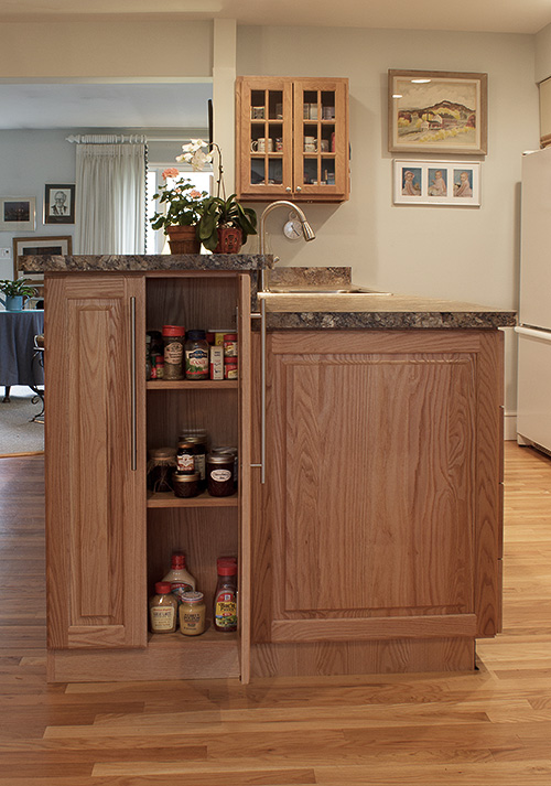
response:
<svg viewBox="0 0 551 786"><path fill-rule="evenodd" d="M248 680L250 278L233 270L46 273L48 679ZM234 329L239 379L145 380L145 331ZM145 489L147 451L204 428L239 451L238 492ZM239 631L148 633L148 597L183 551L212 609L238 556Z"/></svg>

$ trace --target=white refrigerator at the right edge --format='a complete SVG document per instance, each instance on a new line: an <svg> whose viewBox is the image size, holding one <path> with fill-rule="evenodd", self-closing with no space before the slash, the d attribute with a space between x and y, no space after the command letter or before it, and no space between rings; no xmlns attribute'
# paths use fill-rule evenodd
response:
<svg viewBox="0 0 551 786"><path fill-rule="evenodd" d="M517 437L551 453L551 148L522 157Z"/></svg>

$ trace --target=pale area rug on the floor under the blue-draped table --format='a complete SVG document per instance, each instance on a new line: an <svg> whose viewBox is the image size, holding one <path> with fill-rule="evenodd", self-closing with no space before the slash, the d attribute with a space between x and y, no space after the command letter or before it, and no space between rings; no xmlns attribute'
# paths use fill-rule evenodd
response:
<svg viewBox="0 0 551 786"><path fill-rule="evenodd" d="M44 423L32 420L42 411L42 401L24 387L11 388L10 403L2 402L3 394L0 387L0 455L43 451Z"/></svg>

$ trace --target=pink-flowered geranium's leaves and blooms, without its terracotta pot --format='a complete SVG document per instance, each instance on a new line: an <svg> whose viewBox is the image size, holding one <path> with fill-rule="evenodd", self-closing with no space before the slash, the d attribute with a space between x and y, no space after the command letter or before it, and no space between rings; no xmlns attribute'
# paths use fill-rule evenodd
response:
<svg viewBox="0 0 551 786"><path fill-rule="evenodd" d="M155 213L151 218L153 229L163 227L166 235L169 226L195 226L203 215L203 205L205 197L208 196L206 191L197 191L188 177L179 176L180 172L176 168L164 170L164 184L159 186L156 194L153 194L154 200L159 200L159 204L166 205L166 209ZM172 185L168 185L168 179L175 179Z"/></svg>

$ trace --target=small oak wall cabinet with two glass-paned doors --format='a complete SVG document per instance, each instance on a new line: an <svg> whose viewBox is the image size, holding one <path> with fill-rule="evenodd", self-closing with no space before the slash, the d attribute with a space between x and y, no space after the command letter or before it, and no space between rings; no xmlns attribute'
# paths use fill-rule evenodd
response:
<svg viewBox="0 0 551 786"><path fill-rule="evenodd" d="M236 95L240 200L348 198L348 79L241 76Z"/></svg>

